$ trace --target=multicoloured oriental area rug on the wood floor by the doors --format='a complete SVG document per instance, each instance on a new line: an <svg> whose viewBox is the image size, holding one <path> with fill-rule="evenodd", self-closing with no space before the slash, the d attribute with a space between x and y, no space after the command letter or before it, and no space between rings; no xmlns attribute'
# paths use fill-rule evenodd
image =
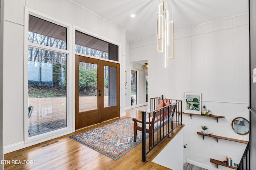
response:
<svg viewBox="0 0 256 170"><path fill-rule="evenodd" d="M137 132L136 142L133 141L133 124L132 118L126 117L69 137L101 154L117 160L142 142L141 131Z"/></svg>

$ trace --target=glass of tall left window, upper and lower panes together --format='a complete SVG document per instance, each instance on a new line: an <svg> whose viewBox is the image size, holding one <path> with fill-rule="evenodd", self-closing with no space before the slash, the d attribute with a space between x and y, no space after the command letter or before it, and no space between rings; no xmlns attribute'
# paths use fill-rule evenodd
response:
<svg viewBox="0 0 256 170"><path fill-rule="evenodd" d="M29 137L66 127L67 28L29 15Z"/></svg>

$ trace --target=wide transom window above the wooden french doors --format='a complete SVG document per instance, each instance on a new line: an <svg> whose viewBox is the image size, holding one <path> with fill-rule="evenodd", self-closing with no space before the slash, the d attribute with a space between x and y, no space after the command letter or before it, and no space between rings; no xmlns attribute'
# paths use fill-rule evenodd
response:
<svg viewBox="0 0 256 170"><path fill-rule="evenodd" d="M118 46L76 31L76 53L118 61Z"/></svg>

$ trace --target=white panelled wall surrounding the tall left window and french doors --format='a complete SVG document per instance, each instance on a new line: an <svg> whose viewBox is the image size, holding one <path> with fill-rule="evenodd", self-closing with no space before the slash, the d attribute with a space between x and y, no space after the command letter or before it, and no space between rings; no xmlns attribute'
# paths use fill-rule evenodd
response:
<svg viewBox="0 0 256 170"><path fill-rule="evenodd" d="M74 4L70 0L6 0L4 1L4 59L3 59L3 113L4 152L21 149L42 142L24 144L24 7L44 16L50 16L69 25L79 27L104 40L120 45L120 81L124 81L125 36L123 29ZM70 29L72 33L72 29ZM71 36L72 37L72 36ZM1 36L2 39L2 36ZM74 44L74 42L72 42ZM15 47L15 50L13 50ZM25 47L27 48L27 47ZM70 55L74 57L74 52ZM74 61L74 60L72 60ZM74 63L71 64L74 70ZM70 82L74 87L74 82ZM124 85L120 86L121 109L125 113ZM70 90L70 107L74 115L74 90ZM27 113L25 113L27 116ZM72 120L74 123L74 120ZM74 129L72 129L74 131ZM54 138L53 136L51 138ZM50 138L47 138L49 140Z"/></svg>

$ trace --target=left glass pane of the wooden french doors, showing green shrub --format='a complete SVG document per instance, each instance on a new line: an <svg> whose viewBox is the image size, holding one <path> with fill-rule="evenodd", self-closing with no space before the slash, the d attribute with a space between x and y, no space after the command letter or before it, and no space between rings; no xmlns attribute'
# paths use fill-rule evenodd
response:
<svg viewBox="0 0 256 170"><path fill-rule="evenodd" d="M79 112L98 109L97 64L79 62Z"/></svg>

